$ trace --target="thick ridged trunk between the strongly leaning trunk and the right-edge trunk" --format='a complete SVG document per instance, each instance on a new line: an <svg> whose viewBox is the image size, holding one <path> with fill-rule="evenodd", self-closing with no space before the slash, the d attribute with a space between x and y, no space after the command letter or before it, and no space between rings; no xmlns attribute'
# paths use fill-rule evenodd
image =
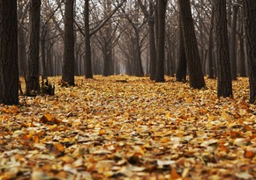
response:
<svg viewBox="0 0 256 180"><path fill-rule="evenodd" d="M215 40L217 53L218 97L232 97L230 52L227 30L226 0L215 0Z"/></svg>

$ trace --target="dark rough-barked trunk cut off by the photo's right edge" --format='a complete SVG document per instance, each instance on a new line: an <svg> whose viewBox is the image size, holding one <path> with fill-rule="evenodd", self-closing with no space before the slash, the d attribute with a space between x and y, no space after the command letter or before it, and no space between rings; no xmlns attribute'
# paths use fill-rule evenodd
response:
<svg viewBox="0 0 256 180"><path fill-rule="evenodd" d="M249 68L250 100L256 100L256 1L244 0L245 36L247 44L247 58Z"/></svg>

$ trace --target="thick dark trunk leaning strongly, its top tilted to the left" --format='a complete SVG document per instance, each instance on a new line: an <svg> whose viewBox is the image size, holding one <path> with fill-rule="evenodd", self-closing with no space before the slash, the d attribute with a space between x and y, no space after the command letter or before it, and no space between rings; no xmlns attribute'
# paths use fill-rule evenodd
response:
<svg viewBox="0 0 256 180"><path fill-rule="evenodd" d="M189 70L190 86L201 89L206 86L200 62L199 48L196 40L192 19L191 4L189 0L179 0L181 25L184 33L184 49Z"/></svg>

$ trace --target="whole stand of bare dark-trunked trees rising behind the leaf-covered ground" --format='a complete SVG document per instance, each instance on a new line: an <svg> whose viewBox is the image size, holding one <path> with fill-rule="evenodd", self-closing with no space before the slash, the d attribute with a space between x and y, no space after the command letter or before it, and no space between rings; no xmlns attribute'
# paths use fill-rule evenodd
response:
<svg viewBox="0 0 256 180"><path fill-rule="evenodd" d="M31 96L40 75L74 85L76 75L188 74L200 89L207 74L217 76L218 97L232 97L231 80L246 67L253 103L256 5L227 1L0 0L0 103L19 103L19 75Z"/></svg>

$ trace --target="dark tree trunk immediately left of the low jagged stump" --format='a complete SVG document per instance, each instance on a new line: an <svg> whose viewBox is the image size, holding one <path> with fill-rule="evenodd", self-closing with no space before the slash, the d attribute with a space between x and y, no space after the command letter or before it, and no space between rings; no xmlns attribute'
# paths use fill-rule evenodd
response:
<svg viewBox="0 0 256 180"><path fill-rule="evenodd" d="M30 0L29 7L29 49L27 61L26 95L40 91L39 84L39 44L40 44L41 0Z"/></svg>

